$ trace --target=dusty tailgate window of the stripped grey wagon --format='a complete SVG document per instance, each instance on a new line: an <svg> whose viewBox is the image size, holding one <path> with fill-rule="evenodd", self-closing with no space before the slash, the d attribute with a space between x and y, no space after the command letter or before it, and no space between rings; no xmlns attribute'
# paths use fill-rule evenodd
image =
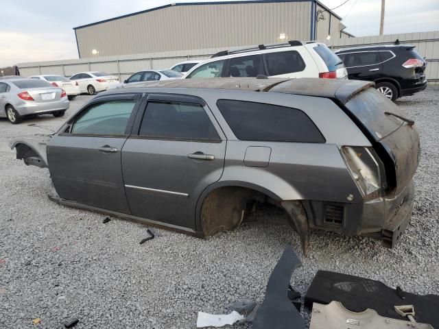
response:
<svg viewBox="0 0 439 329"><path fill-rule="evenodd" d="M355 95L346 103L346 108L364 124L377 141L388 136L403 124L401 119L385 114L385 112L407 118L407 114L375 88L368 88Z"/></svg>

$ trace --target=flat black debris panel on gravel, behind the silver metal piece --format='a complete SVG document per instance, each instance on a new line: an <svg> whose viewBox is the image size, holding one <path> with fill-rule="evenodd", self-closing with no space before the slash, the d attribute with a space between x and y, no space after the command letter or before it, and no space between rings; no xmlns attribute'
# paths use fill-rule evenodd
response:
<svg viewBox="0 0 439 329"><path fill-rule="evenodd" d="M364 312L367 308L376 310L381 317L406 320L394 306L413 305L416 321L439 328L439 295L416 295L402 289L392 289L382 282L348 276L331 271L318 271L305 295L305 306L313 302L329 304L333 300L352 312Z"/></svg>

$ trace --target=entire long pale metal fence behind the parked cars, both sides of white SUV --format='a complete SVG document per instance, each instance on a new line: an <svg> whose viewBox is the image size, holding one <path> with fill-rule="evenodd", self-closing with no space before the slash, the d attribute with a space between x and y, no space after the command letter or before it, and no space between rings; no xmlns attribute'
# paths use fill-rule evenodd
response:
<svg viewBox="0 0 439 329"><path fill-rule="evenodd" d="M329 47L342 48L355 45L389 44L399 39L403 44L415 45L421 56L427 58L427 79L431 84L439 84L439 32L390 34L387 36L365 36L322 40ZM233 49L231 47L230 49ZM141 53L105 58L82 58L53 62L34 62L19 64L24 76L51 73L70 76L80 71L105 71L119 75L121 80L132 73L145 69L165 69L184 60L204 60L224 48L198 49L188 51L166 51L161 53Z"/></svg>

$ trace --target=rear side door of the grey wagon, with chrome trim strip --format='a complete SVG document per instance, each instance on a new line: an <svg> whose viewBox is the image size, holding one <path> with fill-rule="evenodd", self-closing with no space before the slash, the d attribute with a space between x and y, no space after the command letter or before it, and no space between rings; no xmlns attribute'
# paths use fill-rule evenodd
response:
<svg viewBox="0 0 439 329"><path fill-rule="evenodd" d="M225 151L226 138L204 101L148 95L122 149L132 215L195 229L196 202L221 178Z"/></svg>

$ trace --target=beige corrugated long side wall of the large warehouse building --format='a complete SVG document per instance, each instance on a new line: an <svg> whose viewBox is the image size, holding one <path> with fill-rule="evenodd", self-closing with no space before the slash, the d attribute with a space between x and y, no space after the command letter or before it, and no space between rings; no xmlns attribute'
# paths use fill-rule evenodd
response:
<svg viewBox="0 0 439 329"><path fill-rule="evenodd" d="M80 58L309 40L311 2L172 5L76 29Z"/></svg>

